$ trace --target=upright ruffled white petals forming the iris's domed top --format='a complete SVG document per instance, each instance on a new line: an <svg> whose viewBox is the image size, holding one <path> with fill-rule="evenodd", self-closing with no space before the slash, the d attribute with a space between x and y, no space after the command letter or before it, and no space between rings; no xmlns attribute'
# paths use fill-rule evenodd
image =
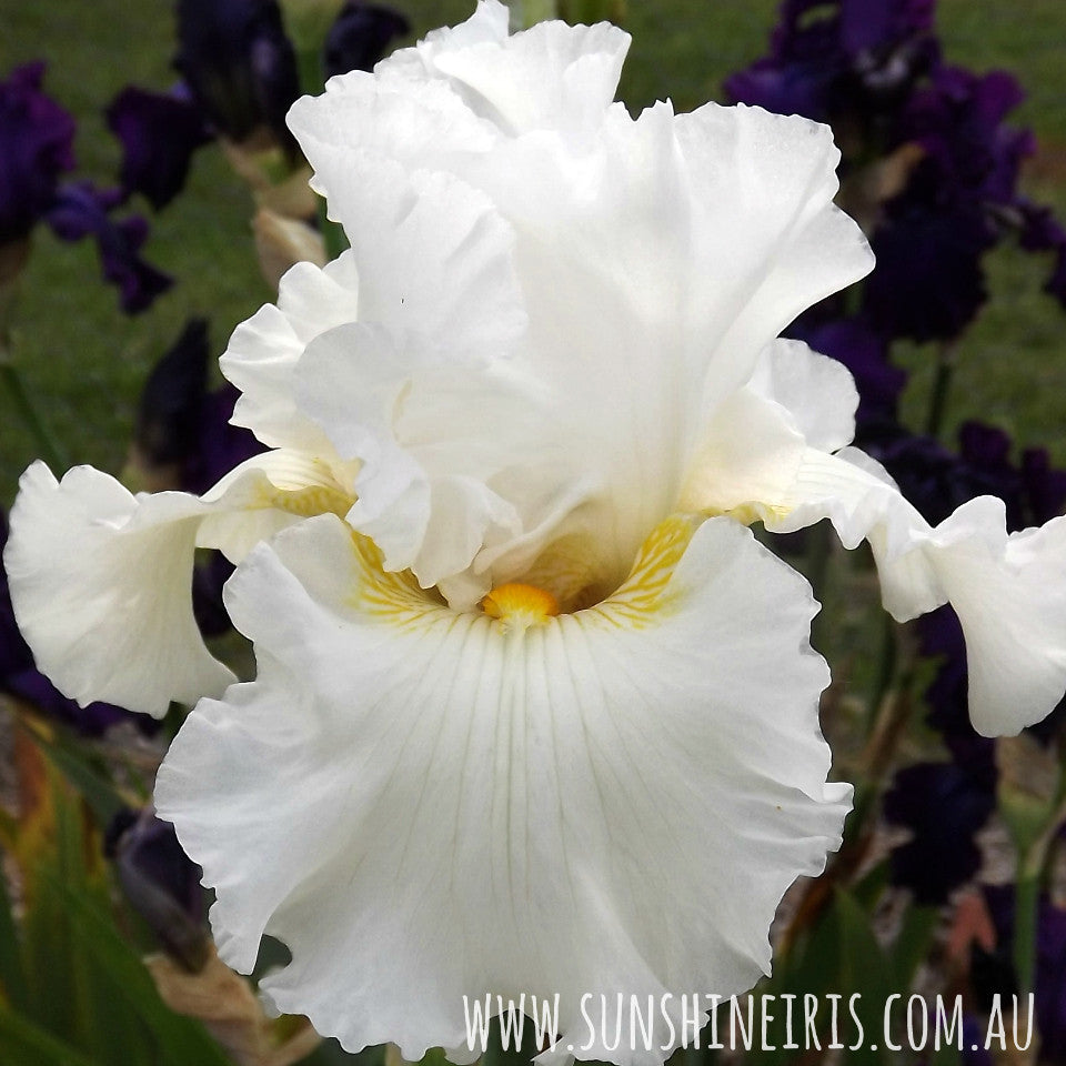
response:
<svg viewBox="0 0 1066 1066"><path fill-rule="evenodd" d="M353 523L390 567L462 590L456 604L561 542L596 560L582 566L590 587L615 586L677 505L710 412L798 311L872 263L832 204L827 128L667 104L634 120L609 103L625 43L610 27L562 23L509 38L504 12L482 6L290 114L362 279L362 329L323 338L301 363L303 413L343 454L341 435L359 438L364 462L373 453ZM392 411L425 432L402 431L399 413L373 430L353 414L362 371L345 351L369 365L382 334L390 394L403 396ZM481 380L479 366L502 360L524 415L497 371ZM429 404L447 418L416 415L420 375L447 368L463 383ZM486 419L496 462L467 432ZM423 545L445 527L435 501L452 543L434 545L430 566Z"/></svg>

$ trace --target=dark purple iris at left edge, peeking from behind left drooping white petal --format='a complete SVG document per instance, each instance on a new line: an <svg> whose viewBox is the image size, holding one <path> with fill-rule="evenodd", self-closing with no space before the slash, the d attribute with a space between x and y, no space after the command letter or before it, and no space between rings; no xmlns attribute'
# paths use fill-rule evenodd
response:
<svg viewBox="0 0 1066 1066"><path fill-rule="evenodd" d="M0 510L0 559L8 542L8 520ZM135 721L149 728L155 723L143 714L131 714L109 703L90 703L79 707L68 700L33 663L33 654L22 640L14 622L14 610L8 591L8 575L0 562L0 692L31 704L57 722L71 726L86 736L100 736L119 722Z"/></svg>

